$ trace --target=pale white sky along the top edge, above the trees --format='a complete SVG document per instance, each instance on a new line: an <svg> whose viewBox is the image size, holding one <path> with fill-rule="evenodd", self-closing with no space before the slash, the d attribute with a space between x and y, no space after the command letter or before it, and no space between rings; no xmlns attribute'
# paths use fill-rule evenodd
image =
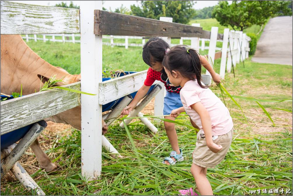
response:
<svg viewBox="0 0 293 196"><path fill-rule="evenodd" d="M24 4L35 4L35 5L43 5L43 6L54 6L56 4L60 4L62 1L12 1L12 2L18 2L18 3L24 3ZM70 1L63 1L66 2L67 5L70 4ZM74 5L80 6L82 4L82 1L73 1ZM130 9L130 5L138 5L139 3L137 1L104 1L103 7L105 7L107 10L115 10L116 8L119 8L121 5L127 7ZM217 5L218 1L196 1L196 4L194 5L194 9L202 9L204 7L214 6Z"/></svg>

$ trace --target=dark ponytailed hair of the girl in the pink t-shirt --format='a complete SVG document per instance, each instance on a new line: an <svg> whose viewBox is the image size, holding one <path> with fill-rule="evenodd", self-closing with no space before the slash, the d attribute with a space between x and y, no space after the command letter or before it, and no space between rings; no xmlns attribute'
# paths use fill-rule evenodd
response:
<svg viewBox="0 0 293 196"><path fill-rule="evenodd" d="M166 54L163 66L171 74L173 70L178 71L182 77L197 80L200 87L207 88L201 83L201 60L196 50L180 45L174 46Z"/></svg>

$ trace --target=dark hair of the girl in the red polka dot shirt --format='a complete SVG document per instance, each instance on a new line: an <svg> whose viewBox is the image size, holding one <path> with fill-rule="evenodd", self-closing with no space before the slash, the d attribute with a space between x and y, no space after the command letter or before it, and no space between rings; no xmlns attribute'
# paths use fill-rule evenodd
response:
<svg viewBox="0 0 293 196"><path fill-rule="evenodd" d="M142 48L142 59L152 67L152 63L163 62L169 44L161 37L150 38Z"/></svg>

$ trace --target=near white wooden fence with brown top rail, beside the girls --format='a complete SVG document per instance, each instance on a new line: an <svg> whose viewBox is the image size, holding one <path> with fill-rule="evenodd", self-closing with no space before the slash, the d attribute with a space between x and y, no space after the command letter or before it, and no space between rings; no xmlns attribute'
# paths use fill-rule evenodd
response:
<svg viewBox="0 0 293 196"><path fill-rule="evenodd" d="M199 50L199 38L209 39L208 55L212 61L221 57L222 78L225 69L228 72L231 70L232 63L236 66L236 62L248 57L250 38L242 32L233 32L226 28L224 34L220 34L217 27L212 27L211 31L204 31L196 25L189 26L170 21L172 18L162 17L160 20L154 20L102 11L101 1L83 1L80 10L1 1L1 34L80 33L81 35L82 79L81 82L67 86L97 94L96 96L81 94L81 171L87 178L96 179L101 172L102 104L137 91L142 86L147 73L145 70L102 82L102 35L162 36L169 43L171 37L190 37L191 47L197 50ZM215 53L217 40L223 40L220 53ZM231 50L228 50L228 42ZM157 81L157 83L161 82ZM161 86L163 87L162 83ZM162 88L156 96L155 115L163 113L164 91L165 89ZM66 96L62 96L64 93ZM56 96L58 99L55 99ZM76 94L68 95L68 92L60 90L37 92L1 102L1 109L6 111L5 115L1 115L1 135L76 107L80 103L79 98L80 96ZM39 101L38 105L37 101ZM7 116L9 111L17 112L13 112L15 115Z"/></svg>

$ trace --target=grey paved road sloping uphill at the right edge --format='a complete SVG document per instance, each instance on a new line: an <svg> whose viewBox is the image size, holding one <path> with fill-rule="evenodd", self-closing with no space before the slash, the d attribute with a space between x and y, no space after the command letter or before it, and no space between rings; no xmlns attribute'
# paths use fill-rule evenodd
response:
<svg viewBox="0 0 293 196"><path fill-rule="evenodd" d="M252 61L292 65L292 16L270 19L258 40Z"/></svg>

